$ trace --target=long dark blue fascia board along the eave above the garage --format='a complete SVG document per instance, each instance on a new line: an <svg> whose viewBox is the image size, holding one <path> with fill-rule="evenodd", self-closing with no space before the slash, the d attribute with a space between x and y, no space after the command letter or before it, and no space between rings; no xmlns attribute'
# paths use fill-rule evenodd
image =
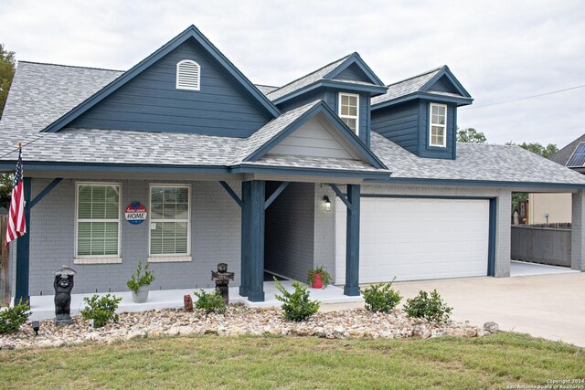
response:
<svg viewBox="0 0 585 390"><path fill-rule="evenodd" d="M377 183L377 182L372 182ZM455 185L472 187L504 187L504 188L558 188L558 189L585 189L585 184L558 184L558 183L531 183L531 182L501 182L488 180L457 180L457 179L411 179L390 177L389 180L378 182L386 184L419 184L419 185Z"/></svg>

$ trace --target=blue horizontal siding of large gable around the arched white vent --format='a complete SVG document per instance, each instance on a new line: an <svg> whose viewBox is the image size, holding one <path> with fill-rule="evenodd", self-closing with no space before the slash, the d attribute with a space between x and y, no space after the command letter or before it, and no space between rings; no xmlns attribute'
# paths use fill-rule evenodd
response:
<svg viewBox="0 0 585 390"><path fill-rule="evenodd" d="M183 59L200 65L200 90L176 90L176 63ZM268 121L214 58L186 42L69 127L249 137Z"/></svg>

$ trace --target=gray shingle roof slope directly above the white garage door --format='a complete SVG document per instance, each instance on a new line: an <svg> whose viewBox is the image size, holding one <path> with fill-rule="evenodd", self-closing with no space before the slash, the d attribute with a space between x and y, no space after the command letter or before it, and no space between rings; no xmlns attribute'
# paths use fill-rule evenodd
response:
<svg viewBox="0 0 585 390"><path fill-rule="evenodd" d="M457 143L457 159L420 158L371 133L372 151L393 178L585 184L582 174L516 145Z"/></svg>

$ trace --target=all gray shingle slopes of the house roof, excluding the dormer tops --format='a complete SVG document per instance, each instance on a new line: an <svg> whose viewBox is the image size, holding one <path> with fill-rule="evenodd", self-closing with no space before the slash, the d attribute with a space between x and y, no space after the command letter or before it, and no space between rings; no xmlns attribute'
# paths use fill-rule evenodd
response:
<svg viewBox="0 0 585 390"><path fill-rule="evenodd" d="M16 147L16 141L23 141L25 163L229 166L239 163L317 103L283 113L248 139L91 129L39 133L121 74L21 61L0 121L0 144L5 147L0 160L16 160L11 145ZM394 178L585 184L585 176L516 146L459 144L457 160L441 160L417 157L376 132L372 132L371 144ZM379 171L360 161L305 156L266 155L251 164Z"/></svg>

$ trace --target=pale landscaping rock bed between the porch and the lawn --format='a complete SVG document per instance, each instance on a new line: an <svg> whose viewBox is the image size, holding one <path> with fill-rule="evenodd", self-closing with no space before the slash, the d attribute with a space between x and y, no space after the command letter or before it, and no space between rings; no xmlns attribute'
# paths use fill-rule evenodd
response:
<svg viewBox="0 0 585 390"><path fill-rule="evenodd" d="M476 337L489 331L462 322L430 323L408 318L402 311L370 312L364 309L318 312L309 321L290 322L279 308L229 306L225 315L183 309L122 312L117 323L92 329L88 321L73 317L73 325L56 327L41 321L35 335L29 324L21 332L0 335L0 349L74 345L84 342L112 343L159 335L217 334L219 336L289 335L327 339L345 338L432 338L444 335ZM497 325L496 325L497 326ZM492 327L493 328L493 327Z"/></svg>

